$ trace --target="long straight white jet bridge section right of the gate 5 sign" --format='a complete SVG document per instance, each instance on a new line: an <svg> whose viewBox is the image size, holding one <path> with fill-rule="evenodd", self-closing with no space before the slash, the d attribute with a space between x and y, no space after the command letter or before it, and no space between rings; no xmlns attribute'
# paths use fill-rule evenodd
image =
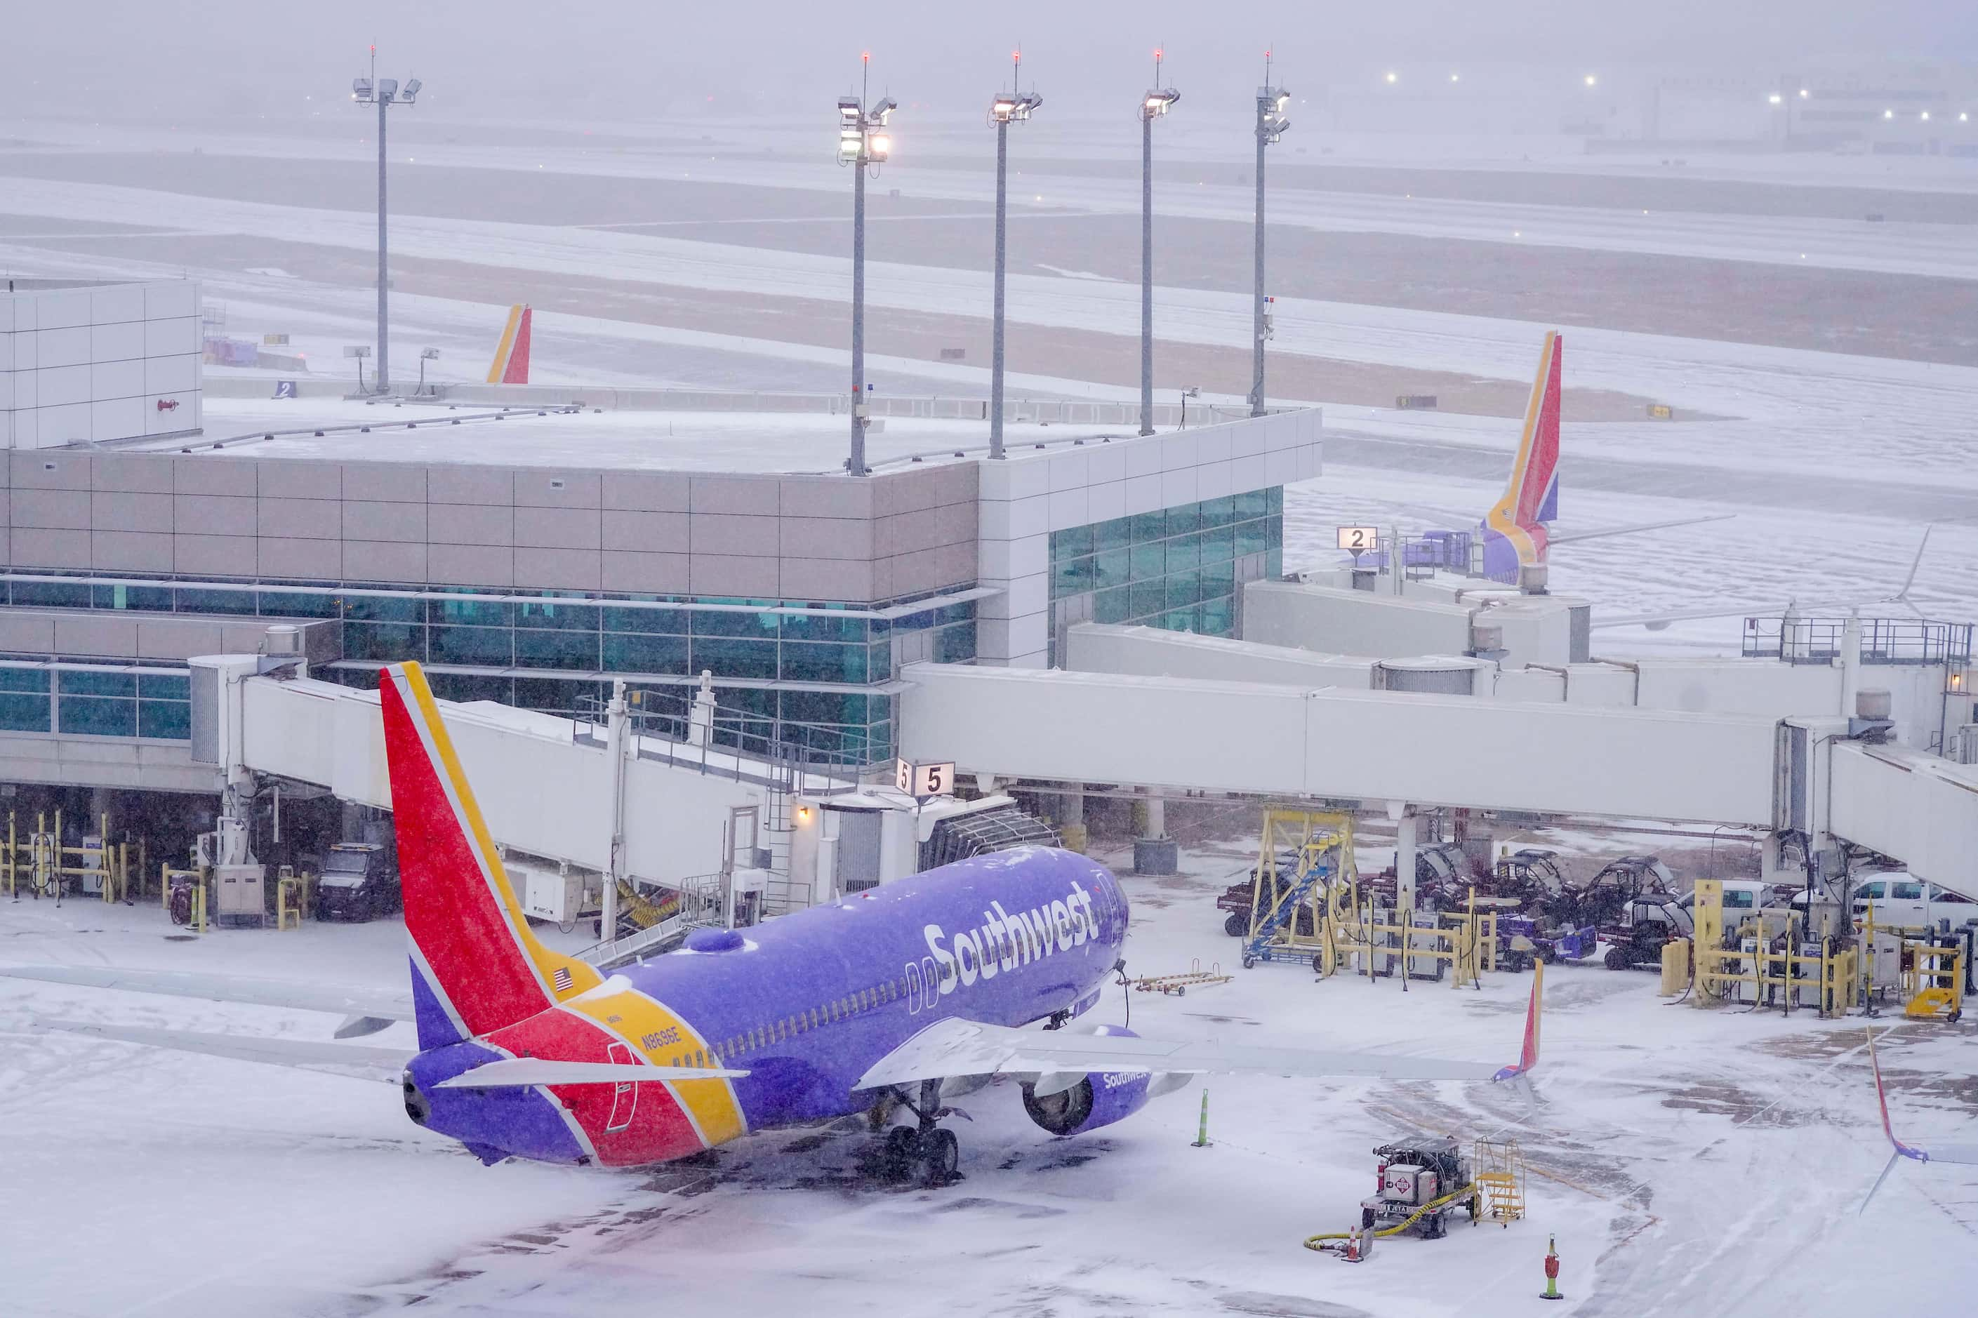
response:
<svg viewBox="0 0 1978 1318"><path fill-rule="evenodd" d="M1774 720L918 663L900 754L1292 798L1770 827Z"/></svg>

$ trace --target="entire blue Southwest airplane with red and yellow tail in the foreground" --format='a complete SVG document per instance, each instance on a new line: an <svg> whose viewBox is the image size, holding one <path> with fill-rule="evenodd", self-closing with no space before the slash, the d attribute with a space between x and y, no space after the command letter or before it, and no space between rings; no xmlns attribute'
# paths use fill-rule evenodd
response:
<svg viewBox="0 0 1978 1318"><path fill-rule="evenodd" d="M955 1176L944 1104L1017 1081L1054 1136L1122 1120L1203 1073L1513 1081L1539 1059L1533 982L1517 1065L1161 1043L1076 1017L1124 966L1127 902L1098 863L981 855L748 930L698 930L599 972L536 940L415 663L382 673L411 995L320 993L178 972L0 974L338 1011L338 1037L417 1027L405 1055L348 1043L44 1021L99 1037L388 1077L405 1114L483 1162L635 1166L750 1130L868 1114L898 1174ZM892 1124L906 1118L904 1124Z"/></svg>

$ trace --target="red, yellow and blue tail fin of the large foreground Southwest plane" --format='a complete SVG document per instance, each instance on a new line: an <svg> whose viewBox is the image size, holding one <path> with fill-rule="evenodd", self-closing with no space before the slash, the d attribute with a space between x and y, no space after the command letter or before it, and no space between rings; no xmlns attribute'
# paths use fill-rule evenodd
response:
<svg viewBox="0 0 1978 1318"><path fill-rule="evenodd" d="M485 1035L599 984L522 918L417 663L380 675L419 1047Z"/></svg>

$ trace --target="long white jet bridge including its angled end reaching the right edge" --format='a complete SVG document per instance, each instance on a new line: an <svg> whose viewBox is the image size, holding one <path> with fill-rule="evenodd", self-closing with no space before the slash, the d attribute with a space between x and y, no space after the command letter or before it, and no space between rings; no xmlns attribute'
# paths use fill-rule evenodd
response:
<svg viewBox="0 0 1978 1318"><path fill-rule="evenodd" d="M1964 887L1978 766L1845 720L1118 673L902 669L900 754L961 772L1290 800L1812 827ZM1812 736L1792 736L1818 724ZM1794 754L1812 748L1812 772ZM1794 796L1798 794L1798 796Z"/></svg>

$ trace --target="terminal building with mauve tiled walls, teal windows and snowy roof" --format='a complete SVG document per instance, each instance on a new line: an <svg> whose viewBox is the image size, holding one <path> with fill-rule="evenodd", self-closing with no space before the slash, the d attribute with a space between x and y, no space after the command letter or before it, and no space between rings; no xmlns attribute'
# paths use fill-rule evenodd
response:
<svg viewBox="0 0 1978 1318"><path fill-rule="evenodd" d="M710 453L696 414L380 416L10 451L0 730L170 754L184 661L293 621L316 677L417 659L441 697L562 714L625 679L655 730L710 673L722 740L868 766L906 663L1044 667L1086 619L1234 635L1319 469L1317 412L1025 425L997 461L902 437L862 479L831 471L843 420L726 416L762 441Z"/></svg>

